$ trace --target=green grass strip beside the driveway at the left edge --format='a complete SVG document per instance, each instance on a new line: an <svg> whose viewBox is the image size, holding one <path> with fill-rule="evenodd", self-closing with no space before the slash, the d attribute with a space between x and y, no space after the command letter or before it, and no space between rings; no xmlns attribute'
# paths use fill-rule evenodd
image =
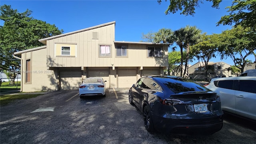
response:
<svg viewBox="0 0 256 144"><path fill-rule="evenodd" d="M40 95L42 94L13 94L13 95L0 96L0 106L5 106L6 104L13 102L14 100L35 98Z"/></svg>

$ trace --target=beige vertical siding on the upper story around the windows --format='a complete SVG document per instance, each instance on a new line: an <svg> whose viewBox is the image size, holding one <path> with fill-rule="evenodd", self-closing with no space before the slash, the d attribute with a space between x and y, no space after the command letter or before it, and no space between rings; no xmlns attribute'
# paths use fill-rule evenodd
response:
<svg viewBox="0 0 256 144"><path fill-rule="evenodd" d="M110 24L99 28L47 40L48 67L109 67L118 66L168 66L168 48L163 46L163 58L148 58L146 44L128 44L128 58L116 58L114 26ZM98 39L92 39L92 32L98 32ZM56 43L76 43L76 57L56 57ZM111 45L112 57L99 57L99 44ZM126 44L127 45L127 44ZM151 45L150 45L151 46ZM153 45L152 45L153 46Z"/></svg>

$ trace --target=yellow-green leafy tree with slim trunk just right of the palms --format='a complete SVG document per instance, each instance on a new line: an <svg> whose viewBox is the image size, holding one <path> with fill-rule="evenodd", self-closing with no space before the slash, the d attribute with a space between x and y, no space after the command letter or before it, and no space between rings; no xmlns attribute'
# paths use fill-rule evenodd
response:
<svg viewBox="0 0 256 144"><path fill-rule="evenodd" d="M196 58L202 62L202 67L204 67L204 76L207 79L207 71L212 68L208 65L211 58L215 58L215 52L217 50L216 41L218 40L218 35L206 35L202 36L202 41L191 47L191 53L196 55ZM201 64L201 63L200 63Z"/></svg>

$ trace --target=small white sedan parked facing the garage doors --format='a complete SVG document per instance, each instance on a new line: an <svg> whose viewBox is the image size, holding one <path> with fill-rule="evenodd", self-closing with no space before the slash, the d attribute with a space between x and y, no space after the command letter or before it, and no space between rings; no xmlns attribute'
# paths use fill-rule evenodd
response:
<svg viewBox="0 0 256 144"><path fill-rule="evenodd" d="M80 98L84 96L106 96L106 87L103 78L86 78L79 86Z"/></svg>

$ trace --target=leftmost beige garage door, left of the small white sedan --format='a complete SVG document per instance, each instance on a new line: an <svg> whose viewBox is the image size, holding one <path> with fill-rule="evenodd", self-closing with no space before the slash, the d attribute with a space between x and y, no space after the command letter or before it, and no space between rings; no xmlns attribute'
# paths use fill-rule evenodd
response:
<svg viewBox="0 0 256 144"><path fill-rule="evenodd" d="M81 70L60 71L61 90L78 89L80 84L82 84Z"/></svg>

